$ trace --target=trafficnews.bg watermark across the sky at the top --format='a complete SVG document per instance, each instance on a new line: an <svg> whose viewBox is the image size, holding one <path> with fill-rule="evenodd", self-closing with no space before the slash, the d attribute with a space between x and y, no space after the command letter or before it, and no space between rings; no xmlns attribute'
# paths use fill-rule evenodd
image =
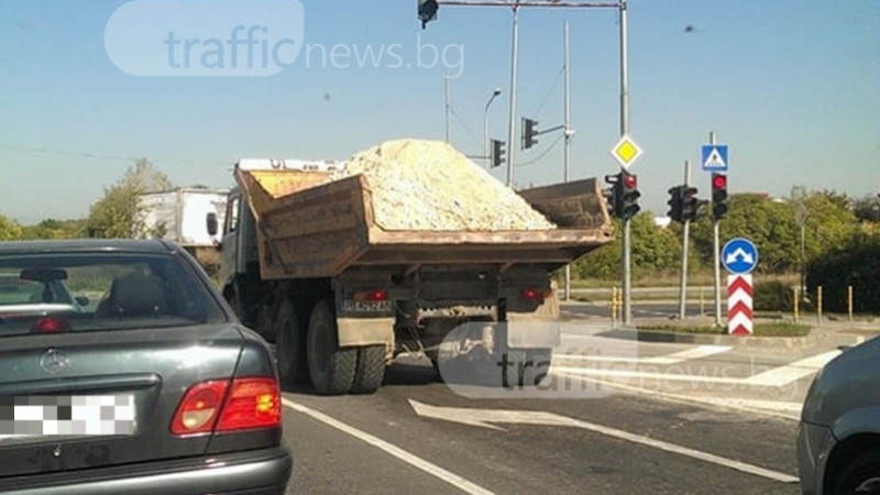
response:
<svg viewBox="0 0 880 495"><path fill-rule="evenodd" d="M133 0L105 28L110 61L141 77L265 77L286 69L464 72L464 45L306 41L298 0Z"/></svg>

